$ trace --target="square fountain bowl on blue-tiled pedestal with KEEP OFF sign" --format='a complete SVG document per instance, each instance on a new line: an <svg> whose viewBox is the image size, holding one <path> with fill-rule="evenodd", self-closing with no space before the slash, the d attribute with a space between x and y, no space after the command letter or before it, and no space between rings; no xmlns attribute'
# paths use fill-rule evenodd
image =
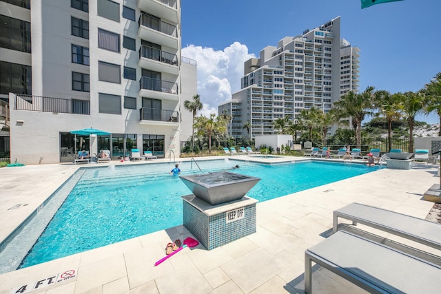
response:
<svg viewBox="0 0 441 294"><path fill-rule="evenodd" d="M260 178L218 171L181 176L183 224L208 250L256 233L256 203L245 196Z"/></svg>

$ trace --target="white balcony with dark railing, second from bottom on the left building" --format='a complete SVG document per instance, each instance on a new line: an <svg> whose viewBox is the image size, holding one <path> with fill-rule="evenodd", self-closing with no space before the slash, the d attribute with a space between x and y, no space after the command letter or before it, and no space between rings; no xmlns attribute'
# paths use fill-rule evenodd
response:
<svg viewBox="0 0 441 294"><path fill-rule="evenodd" d="M176 83L143 76L139 80L139 89L139 96L178 101L178 84Z"/></svg>

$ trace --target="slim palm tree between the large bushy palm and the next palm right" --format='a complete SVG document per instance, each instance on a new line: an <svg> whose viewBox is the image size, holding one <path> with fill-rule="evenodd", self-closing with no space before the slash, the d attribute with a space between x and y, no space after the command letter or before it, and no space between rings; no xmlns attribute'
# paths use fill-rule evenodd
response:
<svg viewBox="0 0 441 294"><path fill-rule="evenodd" d="M387 121L388 151L392 149L392 120L398 119L400 113L400 98L397 94L381 90L375 93L374 105L378 108L378 115L384 116Z"/></svg>

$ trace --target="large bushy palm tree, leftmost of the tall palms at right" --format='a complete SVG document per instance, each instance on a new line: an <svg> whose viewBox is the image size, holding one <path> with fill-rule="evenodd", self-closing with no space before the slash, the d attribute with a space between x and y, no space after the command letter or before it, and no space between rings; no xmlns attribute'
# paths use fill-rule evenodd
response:
<svg viewBox="0 0 441 294"><path fill-rule="evenodd" d="M374 87L369 86L361 94L352 91L340 97L334 105L338 109L340 118L351 118L352 127L355 129L357 148L361 147L361 123L367 114L371 114Z"/></svg>

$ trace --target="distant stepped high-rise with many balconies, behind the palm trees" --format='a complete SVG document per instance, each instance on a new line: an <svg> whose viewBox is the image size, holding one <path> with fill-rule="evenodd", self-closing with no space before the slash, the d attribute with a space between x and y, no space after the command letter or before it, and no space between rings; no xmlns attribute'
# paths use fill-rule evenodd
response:
<svg viewBox="0 0 441 294"><path fill-rule="evenodd" d="M329 112L340 98L340 87L341 94L358 90L359 51L345 40L340 44L340 17L263 48L259 59L244 63L241 90L218 106L219 113L226 109L232 115L229 135L272 135L278 118L296 120L311 107ZM243 127L248 123L249 132Z"/></svg>

